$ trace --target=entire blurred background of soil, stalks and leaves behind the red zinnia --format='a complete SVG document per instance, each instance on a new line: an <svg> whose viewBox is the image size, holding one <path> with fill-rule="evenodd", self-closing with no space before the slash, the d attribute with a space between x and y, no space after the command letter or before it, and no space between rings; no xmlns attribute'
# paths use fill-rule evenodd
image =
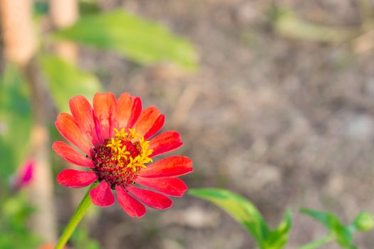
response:
<svg viewBox="0 0 374 249"><path fill-rule="evenodd" d="M165 113L184 142L172 154L194 161L189 188L237 192L274 226L291 209L287 248L326 234L298 208L374 212L373 1L0 0L0 14L0 248L51 243L68 222L84 190L56 184L68 165L51 152L53 123L70 97L98 91ZM186 195L140 219L92 207L71 247L254 242Z"/></svg>

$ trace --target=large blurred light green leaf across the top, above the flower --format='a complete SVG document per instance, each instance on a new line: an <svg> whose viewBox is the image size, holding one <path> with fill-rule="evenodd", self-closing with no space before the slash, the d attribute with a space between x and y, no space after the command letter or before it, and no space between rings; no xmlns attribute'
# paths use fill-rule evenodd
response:
<svg viewBox="0 0 374 249"><path fill-rule="evenodd" d="M83 16L53 37L116 51L144 65L167 61L188 70L197 67L197 53L187 40L126 11Z"/></svg>

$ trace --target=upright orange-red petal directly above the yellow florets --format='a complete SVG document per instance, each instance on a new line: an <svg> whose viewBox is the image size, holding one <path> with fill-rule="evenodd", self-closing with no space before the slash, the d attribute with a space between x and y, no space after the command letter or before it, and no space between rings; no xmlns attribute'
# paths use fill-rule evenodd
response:
<svg viewBox="0 0 374 249"><path fill-rule="evenodd" d="M142 101L140 97L134 97L127 92L120 95L117 105L117 127L133 127L142 111Z"/></svg>

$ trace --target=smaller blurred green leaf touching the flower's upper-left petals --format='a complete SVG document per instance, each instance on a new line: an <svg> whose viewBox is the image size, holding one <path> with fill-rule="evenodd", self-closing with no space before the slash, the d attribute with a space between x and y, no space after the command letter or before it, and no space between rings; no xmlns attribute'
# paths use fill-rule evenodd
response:
<svg viewBox="0 0 374 249"><path fill-rule="evenodd" d="M95 92L102 90L94 75L83 72L66 60L53 55L42 55L40 62L53 101L62 112L68 111L68 100L71 97L83 95L90 100Z"/></svg>

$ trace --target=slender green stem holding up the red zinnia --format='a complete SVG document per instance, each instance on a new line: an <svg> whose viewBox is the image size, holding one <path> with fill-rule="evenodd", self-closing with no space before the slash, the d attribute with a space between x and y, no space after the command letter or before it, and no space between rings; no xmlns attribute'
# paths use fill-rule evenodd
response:
<svg viewBox="0 0 374 249"><path fill-rule="evenodd" d="M62 249L64 245L66 245L66 243L68 242L73 232L76 230L76 227L78 226L80 220L82 220L83 216L85 215L85 212L91 205L90 190L97 185L97 183L92 184L88 189L87 193L85 193L85 196L83 197L82 201L80 201L78 208L74 212L73 216L68 222L68 225L66 225L65 230L58 239L58 243L55 249Z"/></svg>

